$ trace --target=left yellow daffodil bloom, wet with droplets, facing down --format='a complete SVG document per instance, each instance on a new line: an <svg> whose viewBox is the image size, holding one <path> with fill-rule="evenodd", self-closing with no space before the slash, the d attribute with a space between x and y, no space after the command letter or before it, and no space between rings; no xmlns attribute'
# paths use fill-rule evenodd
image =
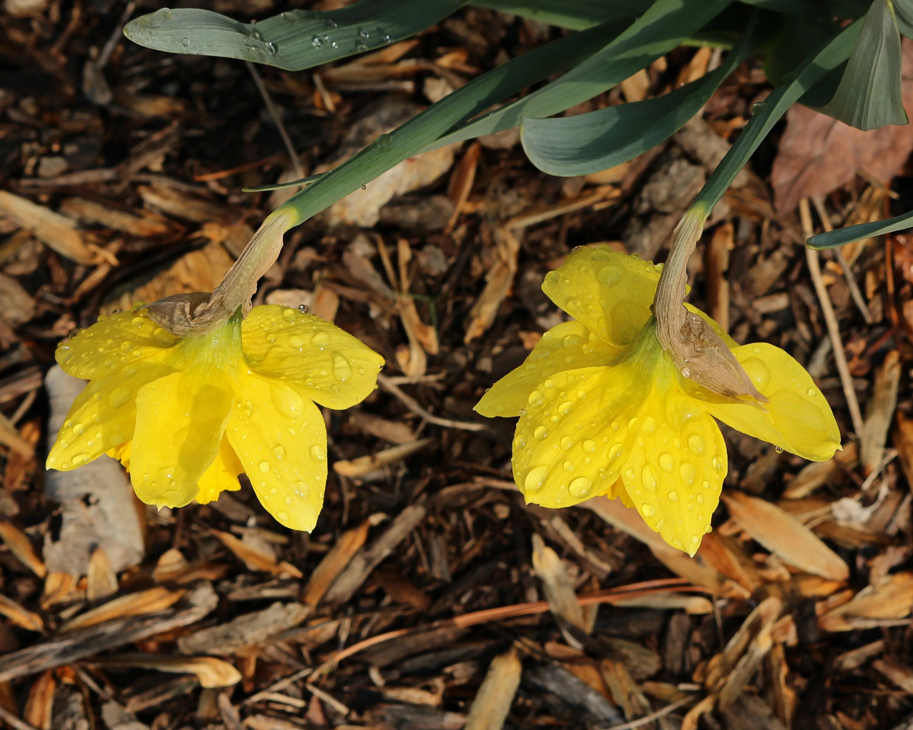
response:
<svg viewBox="0 0 913 730"><path fill-rule="evenodd" d="M205 335L178 338L142 308L100 317L60 344L60 367L89 379L47 456L66 471L121 459L149 505L205 503L240 488L286 527L313 529L327 480L327 433L315 405L349 408L383 358L340 328L268 305Z"/></svg>

